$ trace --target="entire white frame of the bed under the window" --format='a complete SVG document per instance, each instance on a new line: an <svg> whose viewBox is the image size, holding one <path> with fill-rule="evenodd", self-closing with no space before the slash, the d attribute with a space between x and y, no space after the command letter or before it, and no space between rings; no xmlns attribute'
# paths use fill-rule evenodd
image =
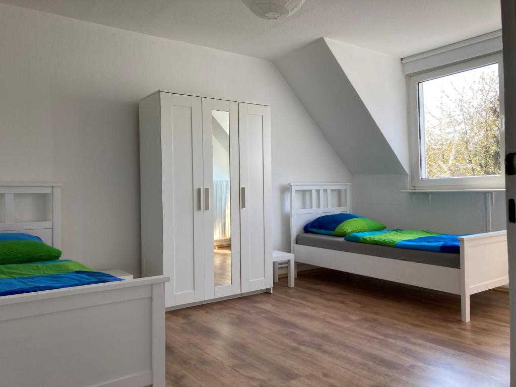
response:
<svg viewBox="0 0 516 387"><path fill-rule="evenodd" d="M458 294L464 322L470 321L470 295L509 283L506 231L459 237L460 269L298 245L297 235L309 221L322 215L352 212L351 184L290 186L291 249L297 263Z"/></svg>

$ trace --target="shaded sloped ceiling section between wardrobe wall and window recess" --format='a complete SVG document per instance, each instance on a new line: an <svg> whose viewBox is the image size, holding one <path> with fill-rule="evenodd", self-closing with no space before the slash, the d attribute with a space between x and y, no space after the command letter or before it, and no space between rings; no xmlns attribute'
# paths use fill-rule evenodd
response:
<svg viewBox="0 0 516 387"><path fill-rule="evenodd" d="M342 50L337 56L341 60L345 59ZM275 63L351 174L407 173L406 124L404 127L392 128L390 133L393 138L396 133L401 133L402 138L399 139L399 144L396 142L395 147L400 150L398 157L364 103L364 100L370 104L378 102L374 98L368 98L372 95L370 92L374 93L374 89L369 89L368 87L372 87L370 85L362 84L361 89L367 95L364 100L361 98L324 38L276 60ZM355 75L356 79L360 79L359 74ZM362 76L366 75L366 72L362 73ZM402 102L406 103L405 94ZM376 114L382 117L381 111L376 111ZM406 118L405 112L394 121L406 122ZM404 146L400 146L402 142ZM317 157L316 150L313 156Z"/></svg>

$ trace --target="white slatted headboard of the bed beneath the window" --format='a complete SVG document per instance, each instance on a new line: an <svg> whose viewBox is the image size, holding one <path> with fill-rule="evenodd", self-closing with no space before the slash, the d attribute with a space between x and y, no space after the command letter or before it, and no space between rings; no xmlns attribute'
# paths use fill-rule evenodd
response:
<svg viewBox="0 0 516 387"><path fill-rule="evenodd" d="M322 215L351 212L350 183L291 183L291 252L305 224Z"/></svg>

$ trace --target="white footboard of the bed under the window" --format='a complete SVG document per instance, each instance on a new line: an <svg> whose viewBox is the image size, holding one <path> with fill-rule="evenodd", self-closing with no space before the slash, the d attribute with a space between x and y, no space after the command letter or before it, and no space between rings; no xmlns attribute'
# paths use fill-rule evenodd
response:
<svg viewBox="0 0 516 387"><path fill-rule="evenodd" d="M462 321L470 321L470 295L509 283L507 231L460 240Z"/></svg>

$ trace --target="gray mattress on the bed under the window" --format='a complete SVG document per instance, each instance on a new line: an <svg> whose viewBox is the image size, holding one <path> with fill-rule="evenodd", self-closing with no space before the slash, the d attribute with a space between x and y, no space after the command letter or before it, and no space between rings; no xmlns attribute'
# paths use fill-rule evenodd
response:
<svg viewBox="0 0 516 387"><path fill-rule="evenodd" d="M323 249L346 251L350 253L381 256L393 260L425 263L428 265L460 268L460 254L438 253L433 251L409 250L396 247L368 245L365 243L348 242L342 236L322 234L299 234L297 244L320 247Z"/></svg>

